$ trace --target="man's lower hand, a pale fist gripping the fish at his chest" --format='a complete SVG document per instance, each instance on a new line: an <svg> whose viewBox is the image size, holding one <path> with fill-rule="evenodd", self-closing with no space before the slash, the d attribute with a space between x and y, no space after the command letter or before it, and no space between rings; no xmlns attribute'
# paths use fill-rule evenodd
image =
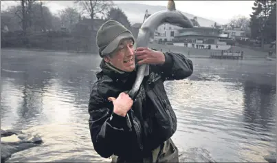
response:
<svg viewBox="0 0 277 163"><path fill-rule="evenodd" d="M108 100L113 102L113 113L116 113L118 116L122 117L126 116L126 113L133 105L133 100L124 92L122 92L118 98L109 97Z"/></svg>

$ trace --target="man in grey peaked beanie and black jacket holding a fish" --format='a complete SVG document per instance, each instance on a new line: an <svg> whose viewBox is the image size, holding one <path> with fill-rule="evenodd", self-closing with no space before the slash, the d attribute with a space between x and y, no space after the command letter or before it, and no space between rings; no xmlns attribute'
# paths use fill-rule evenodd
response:
<svg viewBox="0 0 277 163"><path fill-rule="evenodd" d="M134 50L133 35L117 21L104 23L96 39L103 59L89 99L95 151L105 158L117 155L117 162L178 162L178 150L170 139L177 120L164 80L190 76L192 61L181 54L146 47ZM131 99L124 92L135 82L136 63L151 65L150 74Z"/></svg>

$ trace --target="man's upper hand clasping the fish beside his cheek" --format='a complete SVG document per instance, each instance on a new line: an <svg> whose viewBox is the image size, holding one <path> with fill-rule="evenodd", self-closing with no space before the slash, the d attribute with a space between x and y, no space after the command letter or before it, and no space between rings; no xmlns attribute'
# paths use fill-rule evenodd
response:
<svg viewBox="0 0 277 163"><path fill-rule="evenodd" d="M166 58L162 52L148 49L147 47L137 47L135 55L139 60L138 65L153 64L162 65L166 61Z"/></svg>

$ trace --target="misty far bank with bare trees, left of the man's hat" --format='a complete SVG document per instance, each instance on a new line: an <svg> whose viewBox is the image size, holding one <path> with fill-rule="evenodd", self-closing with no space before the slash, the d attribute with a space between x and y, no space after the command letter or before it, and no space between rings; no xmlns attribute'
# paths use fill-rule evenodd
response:
<svg viewBox="0 0 277 163"><path fill-rule="evenodd" d="M96 33L104 21L131 23L113 1L74 1L58 14L43 1L21 0L1 10L1 47L97 52Z"/></svg>

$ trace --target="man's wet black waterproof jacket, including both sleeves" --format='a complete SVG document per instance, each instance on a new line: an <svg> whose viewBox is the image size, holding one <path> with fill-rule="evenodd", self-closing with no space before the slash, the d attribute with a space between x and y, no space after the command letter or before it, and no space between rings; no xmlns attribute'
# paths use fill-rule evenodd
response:
<svg viewBox="0 0 277 163"><path fill-rule="evenodd" d="M102 61L89 99L89 129L94 150L102 157L118 155L124 160L139 160L168 140L177 129L177 118L164 89L165 80L187 78L193 72L192 61L182 54L167 52L164 65L151 65L150 75L128 112L129 119L113 113L113 103L129 91L137 72L119 73ZM129 121L130 120L130 121Z"/></svg>

